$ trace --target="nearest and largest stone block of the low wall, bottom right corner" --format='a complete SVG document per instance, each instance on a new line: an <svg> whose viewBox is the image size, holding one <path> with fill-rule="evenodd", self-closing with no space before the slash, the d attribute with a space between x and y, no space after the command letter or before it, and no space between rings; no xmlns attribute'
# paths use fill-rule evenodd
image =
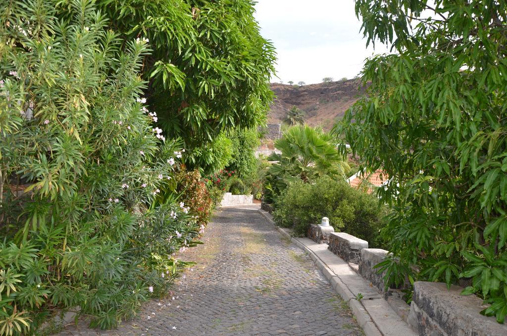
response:
<svg viewBox="0 0 507 336"><path fill-rule="evenodd" d="M448 290L441 282L415 282L409 323L420 335L507 335L507 325L480 314L482 299L460 295L462 290Z"/></svg>

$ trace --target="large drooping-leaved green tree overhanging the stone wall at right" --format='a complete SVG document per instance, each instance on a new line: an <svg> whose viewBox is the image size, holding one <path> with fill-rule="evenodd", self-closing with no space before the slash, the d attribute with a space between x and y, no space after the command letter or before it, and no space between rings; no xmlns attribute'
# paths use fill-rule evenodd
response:
<svg viewBox="0 0 507 336"><path fill-rule="evenodd" d="M367 44L367 95L345 117L347 141L395 214L386 231L403 281L467 283L507 314L507 3L357 0ZM353 122L355 120L355 122ZM400 272L397 271L402 271Z"/></svg>

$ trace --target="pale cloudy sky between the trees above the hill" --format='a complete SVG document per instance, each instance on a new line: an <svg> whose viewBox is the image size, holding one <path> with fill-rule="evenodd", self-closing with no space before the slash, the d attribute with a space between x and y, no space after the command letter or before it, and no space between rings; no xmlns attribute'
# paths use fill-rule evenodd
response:
<svg viewBox="0 0 507 336"><path fill-rule="evenodd" d="M257 0L261 35L277 52L272 82L320 83L324 77L352 78L381 44L366 48L353 0Z"/></svg>

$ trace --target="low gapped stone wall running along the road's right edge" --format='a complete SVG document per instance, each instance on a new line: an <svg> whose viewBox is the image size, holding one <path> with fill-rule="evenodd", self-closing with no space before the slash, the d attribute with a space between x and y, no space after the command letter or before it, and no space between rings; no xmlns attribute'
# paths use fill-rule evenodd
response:
<svg viewBox="0 0 507 336"><path fill-rule="evenodd" d="M311 225L307 233L317 243L323 241L319 236L319 226ZM385 274L379 274L374 268L385 260L388 251L369 249L367 241L344 232L329 233L328 245L329 250L347 261L353 270L370 282L370 286L382 293L389 306L419 335L507 335L507 325L497 323L494 317L480 314L486 306L478 296L460 295L463 288L451 286L448 290L444 283L415 282L409 309L402 299L402 291L385 290Z"/></svg>

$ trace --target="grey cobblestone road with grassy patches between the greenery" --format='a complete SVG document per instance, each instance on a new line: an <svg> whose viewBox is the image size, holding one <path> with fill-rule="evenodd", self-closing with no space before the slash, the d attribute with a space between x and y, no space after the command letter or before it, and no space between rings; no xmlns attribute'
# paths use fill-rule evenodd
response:
<svg viewBox="0 0 507 336"><path fill-rule="evenodd" d="M174 298L152 300L116 330L69 326L62 335L361 335L313 262L281 238L257 206L219 211ZM174 329L174 327L176 327Z"/></svg>

